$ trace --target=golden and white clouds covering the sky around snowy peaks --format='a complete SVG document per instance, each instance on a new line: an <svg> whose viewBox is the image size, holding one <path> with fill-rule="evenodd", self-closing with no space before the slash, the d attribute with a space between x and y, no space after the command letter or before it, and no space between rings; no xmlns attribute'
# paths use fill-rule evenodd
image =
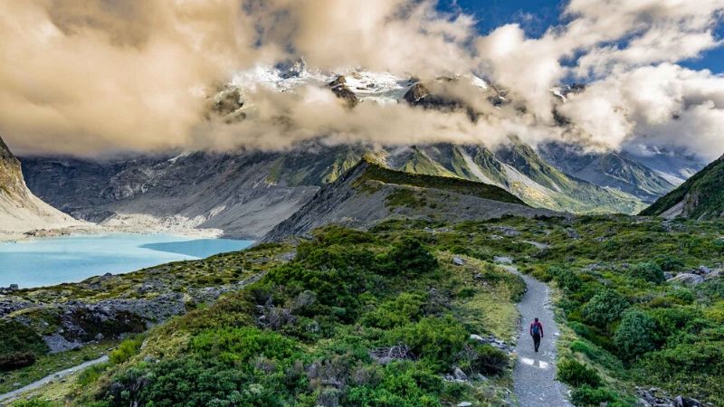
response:
<svg viewBox="0 0 724 407"><path fill-rule="evenodd" d="M372 142L475 142L510 135L621 148L641 139L712 156L724 78L677 63L721 45L724 1L572 0L562 24L530 38L519 24L490 34L434 0L11 0L0 14L0 134L22 154L240 146L310 137ZM239 71L303 56L311 68L416 76L481 113L377 106L346 109L323 87L247 90L247 120L207 120L206 97ZM465 80L507 90L494 109ZM565 105L551 87L587 83ZM554 110L570 121L557 125Z"/></svg>

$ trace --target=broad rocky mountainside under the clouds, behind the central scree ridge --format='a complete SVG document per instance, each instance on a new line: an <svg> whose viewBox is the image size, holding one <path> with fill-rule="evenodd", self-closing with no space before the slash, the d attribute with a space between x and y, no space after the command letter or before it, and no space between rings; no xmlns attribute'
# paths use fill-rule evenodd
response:
<svg viewBox="0 0 724 407"><path fill-rule="evenodd" d="M275 152L196 152L110 162L27 157L23 162L31 190L79 219L109 226L145 222L214 228L227 236L259 239L366 155L399 171L497 185L526 204L554 211L643 209L635 197L565 175L524 146L493 152L452 144L311 141Z"/></svg>

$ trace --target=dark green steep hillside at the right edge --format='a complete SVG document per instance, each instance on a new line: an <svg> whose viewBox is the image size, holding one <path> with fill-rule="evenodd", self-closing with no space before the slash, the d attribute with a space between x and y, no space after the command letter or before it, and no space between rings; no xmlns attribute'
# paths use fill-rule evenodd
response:
<svg viewBox="0 0 724 407"><path fill-rule="evenodd" d="M724 156L666 194L642 215L700 220L724 217Z"/></svg>

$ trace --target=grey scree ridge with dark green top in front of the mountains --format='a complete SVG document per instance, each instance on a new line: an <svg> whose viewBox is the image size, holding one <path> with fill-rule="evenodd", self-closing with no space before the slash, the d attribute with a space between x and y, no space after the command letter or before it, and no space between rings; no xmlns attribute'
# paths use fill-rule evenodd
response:
<svg viewBox="0 0 724 407"><path fill-rule="evenodd" d="M385 219L460 222L503 215L556 214L532 208L498 186L410 174L363 159L337 181L323 186L309 203L263 240L306 235L329 223L367 229Z"/></svg>

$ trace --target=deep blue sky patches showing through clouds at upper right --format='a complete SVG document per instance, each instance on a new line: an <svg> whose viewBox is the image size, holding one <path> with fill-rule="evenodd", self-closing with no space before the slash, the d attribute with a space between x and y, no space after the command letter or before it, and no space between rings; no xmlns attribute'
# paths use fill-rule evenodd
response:
<svg viewBox="0 0 724 407"><path fill-rule="evenodd" d="M489 33L503 24L518 23L529 36L535 37L559 23L566 3L561 0L441 0L440 7L447 10L462 8L465 13L474 14L481 33ZM717 36L724 38L724 24L717 27ZM724 73L724 47L710 50L700 59L681 62L681 65Z"/></svg>

